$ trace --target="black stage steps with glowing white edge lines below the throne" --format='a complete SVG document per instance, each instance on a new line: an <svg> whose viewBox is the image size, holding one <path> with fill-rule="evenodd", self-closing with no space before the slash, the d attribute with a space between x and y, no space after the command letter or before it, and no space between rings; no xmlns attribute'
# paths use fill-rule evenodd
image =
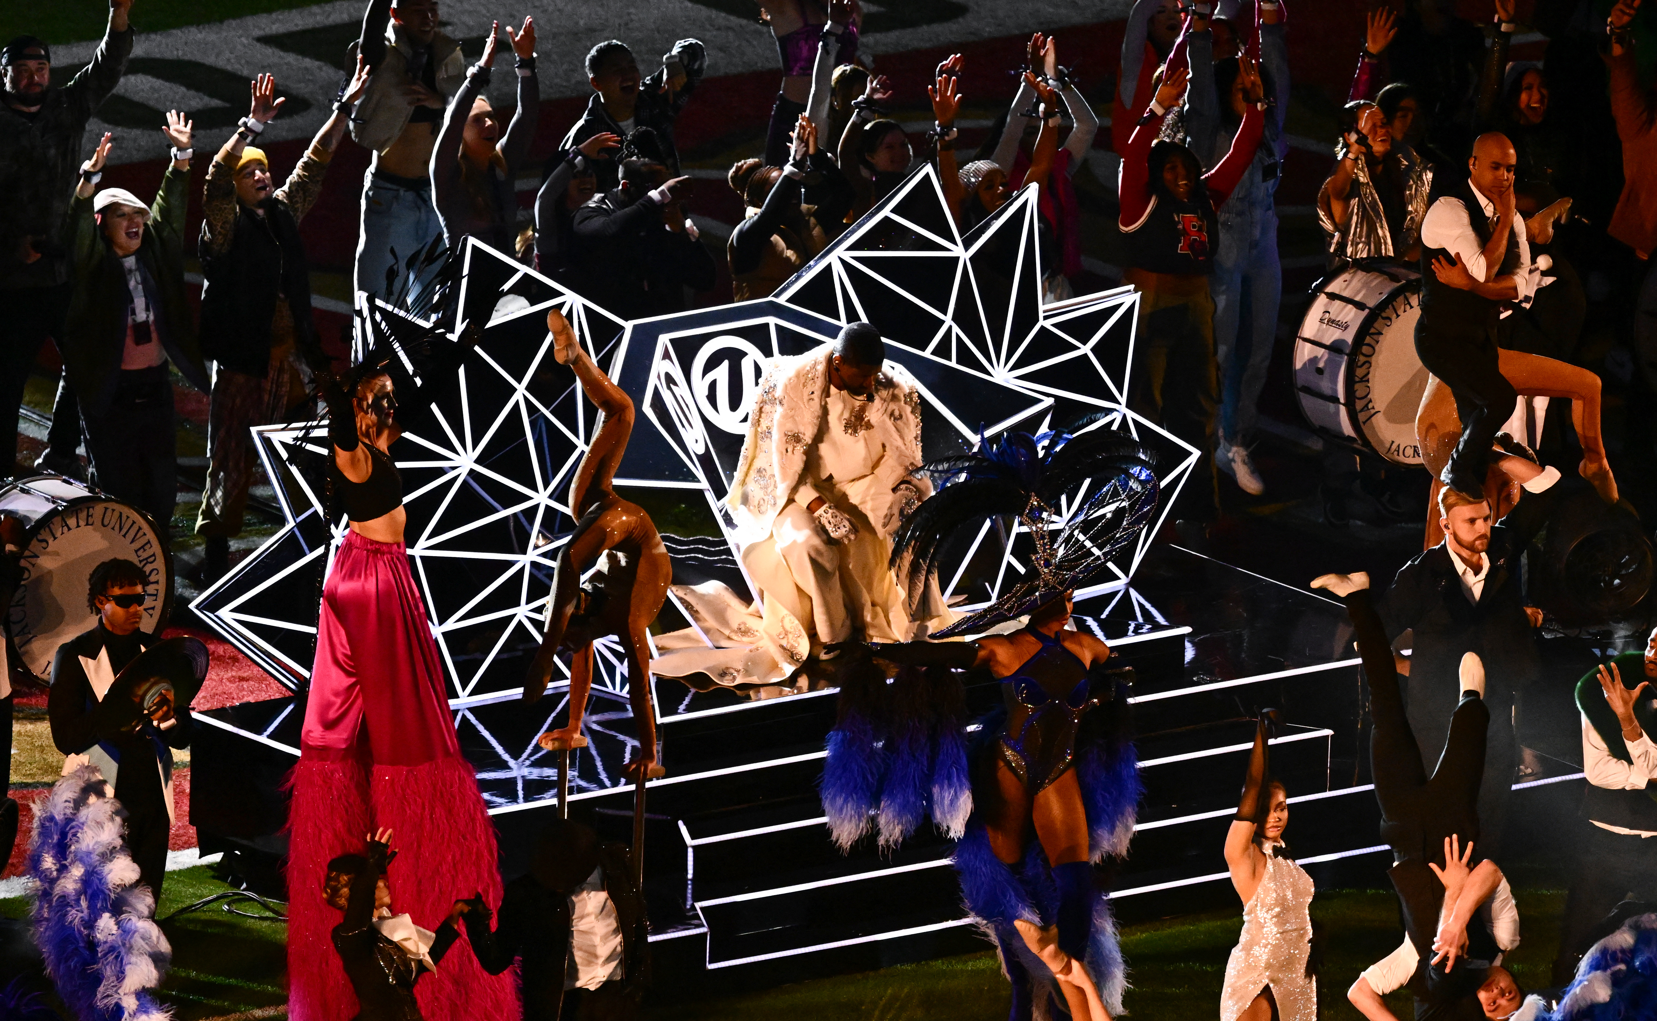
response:
<svg viewBox="0 0 1657 1021"><path fill-rule="evenodd" d="M1133 665L1147 796L1127 860L1112 867L1118 920L1231 902L1220 847L1234 812L1253 715L1284 710L1274 771L1291 791L1294 849L1319 885L1374 885L1387 864L1367 776L1364 692L1341 604L1196 553L1157 544L1127 589L1077 604ZM1571 683L1604 650L1544 644L1548 680L1526 695L1521 743L1536 769L1519 796L1548 804L1581 783ZM490 804L507 877L555 812L555 758L535 746L540 707L517 698L456 703L467 758ZM679 971L810 975L981 948L931 831L888 856L873 841L842 856L828 841L817 779L833 726L832 692L747 702L658 682L663 763L648 791L646 892L658 960ZM996 685L969 692L974 708ZM280 852L273 778L292 765L297 698L204 713L192 822L204 851ZM633 788L618 783L631 741L626 703L595 688L593 746L577 753L572 812L628 839ZM1563 784L1563 786L1556 786ZM1569 798L1574 804L1574 798ZM1514 816L1524 814L1523 804ZM1556 809L1549 809L1556 811ZM227 844L229 846L229 844Z"/></svg>

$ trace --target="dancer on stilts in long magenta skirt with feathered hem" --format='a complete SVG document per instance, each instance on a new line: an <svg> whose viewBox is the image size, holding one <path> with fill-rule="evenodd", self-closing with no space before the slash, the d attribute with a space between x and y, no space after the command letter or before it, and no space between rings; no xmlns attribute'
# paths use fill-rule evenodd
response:
<svg viewBox="0 0 1657 1021"><path fill-rule="evenodd" d="M403 544L403 482L389 447L396 395L373 352L325 389L333 491L350 530L316 621L300 761L288 809L288 1016L348 1021L356 996L330 945L340 913L323 900L326 865L394 829L404 852L388 875L416 925L437 928L457 892L500 899L495 832L472 766L461 758L442 662ZM416 988L426 1021L519 1016L510 976L489 976L467 950Z"/></svg>

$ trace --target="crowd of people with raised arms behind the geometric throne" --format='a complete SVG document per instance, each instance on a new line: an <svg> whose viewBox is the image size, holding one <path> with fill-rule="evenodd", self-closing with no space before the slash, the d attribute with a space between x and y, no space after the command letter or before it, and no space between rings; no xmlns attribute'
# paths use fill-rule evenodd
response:
<svg viewBox="0 0 1657 1021"><path fill-rule="evenodd" d="M1543 60L1510 60L1516 3L1526 5L1528 25L1549 35ZM131 420L129 414L171 414L156 404L161 391L154 400L139 397L139 376L109 376L108 349L96 357L73 349L76 336L91 338L88 303L111 300L93 291L108 288L113 270L80 258L96 252L73 248L70 204L83 161L96 159L81 137L85 126L119 83L133 50L129 7L131 0L111 0L103 45L66 84L50 84L51 53L41 40L20 36L3 53L10 116L0 117L7 185L0 290L12 300L7 333L13 343L5 344L0 364L0 407L18 405L35 357L51 338L68 367L38 467L73 472L75 448L86 439L99 485L162 513L169 501L144 490L166 488L161 478L171 453L162 442L143 457L121 453L126 465L151 465L149 483L139 483L136 467L109 463L114 448L101 470L96 463L101 424ZM1501 132L1516 152L1516 209L1536 265L1519 314L1501 318L1501 346L1564 361L1607 359L1611 372L1637 376L1650 387L1657 386L1657 280L1644 268L1657 247L1657 184L1649 180L1652 161L1642 156L1654 136L1657 98L1639 48L1649 17L1642 17L1639 0L1599 7L1609 10L1609 22L1604 12L1594 13L1592 0L1491 0L1491 18L1480 26L1445 0L1374 5L1314 210L1331 270L1374 261L1417 268L1430 200L1460 177L1475 136ZM1122 189L1143 174L1150 209L1160 212L1152 215L1138 194L1122 190L1117 245L1100 245L1084 230L1077 172L1104 139L1097 137L1094 104L1079 74L1060 63L1054 36L1032 36L1009 88L1009 108L974 139L976 151L966 151L958 124L966 71L961 55L930 76L935 124L920 136L891 109L921 98L900 98L891 81L873 71L867 45L860 48L863 12L855 0L764 0L754 13L775 38L782 79L762 151L727 174L744 209L724 247L737 300L775 291L921 167L936 167L963 233L1019 189L1036 185L1047 301L1072 296L1079 281L1084 288L1099 285L1099 265L1082 265L1084 247L1115 252L1123 278L1145 293L1135 352L1140 386L1130 400L1138 414L1201 450L1195 495L1181 508L1186 525L1206 534L1223 518L1221 477L1251 495L1268 488L1251 448L1284 333L1276 194L1294 137L1284 124L1291 96L1286 5L1133 3L1115 68L1109 144L1125 157ZM517 93L510 113L489 99L497 55L507 48ZM721 278L717 248L686 213L689 179L676 137L679 113L699 101L708 73L709 53L701 41L674 43L656 66L641 66L618 40L592 46L583 68L592 96L539 164L542 187L529 209L520 209L519 184L535 172L550 142L542 137L537 144L540 83L532 20L525 18L522 30L495 26L482 60L469 65L439 25L436 0L371 0L345 66L355 73L341 84L336 116L285 187L275 187L268 161L255 147L280 111L273 91L263 99L255 93L237 132L240 142L232 139L214 159L204 195L207 222L199 238L179 238L181 258L194 250L207 278L200 329L182 321L189 316L169 291L174 283L156 276L166 270L134 271L129 288L128 321L136 333L119 372L164 376L164 359L194 382L192 374L205 379L212 369L212 468L197 521L207 539L209 578L225 566L225 543L240 528L247 500L252 467L242 434L292 412L313 391L315 372L328 367L312 323L297 223L316 200L335 139L346 131L371 152L360 197L358 291L418 308L442 255L464 237L514 252L628 318L706 301ZM1158 94L1175 79L1178 88L1162 108ZM1258 141L1253 131L1246 139L1239 134L1251 109L1259 109ZM979 132L979 126L971 129ZM1135 132L1143 144L1135 146ZM1233 152L1238 139L1246 146ZM1210 169L1221 165L1226 174L1216 179ZM1109 164L1099 161L1094 170L1102 175ZM1163 182L1165 170L1193 185L1191 202L1208 204L1206 212L1193 213L1198 220L1170 215L1175 182ZM1231 170L1238 170L1236 180ZM229 202L232 179L235 202ZM161 266L171 258L174 227L162 213L181 210L164 199L179 185L164 180L131 265ZM99 225L143 205L121 200L109 207L114 212L104 212L109 202L116 202L109 194L91 197ZM1173 238L1178 223L1195 233ZM1157 252L1168 240L1165 233L1180 266L1163 265L1170 260ZM113 228L101 237L116 260L109 266L129 258ZM103 283L85 275L99 275ZM1640 278L1647 280L1644 288ZM1196 286L1201 296L1191 290ZM1604 301L1617 288L1637 293L1637 303L1619 308ZM1627 304L1637 309L1630 314ZM119 318L118 311L103 314ZM1171 324L1176 314L1180 326ZM1606 333L1607 324L1632 333L1632 344L1609 356L1584 352L1582 338L1592 329ZM108 329L121 333L121 324ZM147 348L149 336L161 343ZM1168 399L1167 387L1173 387ZM118 394L134 404L123 404L108 419ZM1572 442L1569 422L1556 420L1548 435L1556 443ZM1332 452L1324 477L1324 510L1336 525L1352 516L1380 523L1420 515L1418 500L1397 493L1399 473L1379 458Z"/></svg>

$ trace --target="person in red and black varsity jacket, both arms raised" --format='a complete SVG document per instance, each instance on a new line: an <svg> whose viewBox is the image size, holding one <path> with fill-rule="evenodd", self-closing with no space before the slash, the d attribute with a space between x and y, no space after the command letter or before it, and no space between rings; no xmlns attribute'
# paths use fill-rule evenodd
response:
<svg viewBox="0 0 1657 1021"><path fill-rule="evenodd" d="M1231 151L1205 174L1190 149L1157 141L1163 117L1185 94L1186 78L1185 70L1167 76L1122 152L1120 228L1128 237L1130 261L1122 280L1140 290L1130 405L1201 455L1180 516L1206 530L1220 516L1215 488L1220 372L1215 301L1208 293L1218 245L1216 210L1254 161L1266 101L1259 68L1251 58L1239 58L1243 122Z"/></svg>

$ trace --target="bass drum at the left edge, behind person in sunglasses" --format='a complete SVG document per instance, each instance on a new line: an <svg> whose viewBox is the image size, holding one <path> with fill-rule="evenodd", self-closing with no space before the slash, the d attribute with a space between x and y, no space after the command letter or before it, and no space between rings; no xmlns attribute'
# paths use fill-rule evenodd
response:
<svg viewBox="0 0 1657 1021"><path fill-rule="evenodd" d="M58 475L0 483L0 513L27 530L7 626L18 662L41 682L51 682L58 645L98 622L86 609L86 582L106 559L129 559L149 574L139 630L167 626L172 554L149 515Z"/></svg>

